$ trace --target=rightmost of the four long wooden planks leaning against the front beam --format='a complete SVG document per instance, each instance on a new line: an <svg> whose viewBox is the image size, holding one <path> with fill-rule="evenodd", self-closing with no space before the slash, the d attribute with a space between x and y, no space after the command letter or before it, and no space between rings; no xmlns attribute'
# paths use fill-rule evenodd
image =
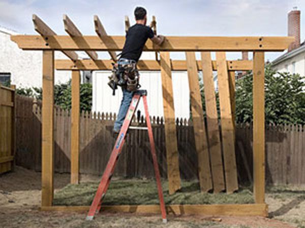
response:
<svg viewBox="0 0 305 228"><path fill-rule="evenodd" d="M229 77L226 62L226 53L217 52L218 90L221 116L222 147L225 165L225 179L227 193L233 193L238 189L234 126L232 122L232 111L229 91Z"/></svg>

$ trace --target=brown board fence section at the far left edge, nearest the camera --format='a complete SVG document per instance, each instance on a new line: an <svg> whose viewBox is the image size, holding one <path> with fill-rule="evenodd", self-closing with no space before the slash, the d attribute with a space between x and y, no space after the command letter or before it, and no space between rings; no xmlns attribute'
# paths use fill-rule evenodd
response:
<svg viewBox="0 0 305 228"><path fill-rule="evenodd" d="M14 168L15 86L0 84L0 174Z"/></svg>

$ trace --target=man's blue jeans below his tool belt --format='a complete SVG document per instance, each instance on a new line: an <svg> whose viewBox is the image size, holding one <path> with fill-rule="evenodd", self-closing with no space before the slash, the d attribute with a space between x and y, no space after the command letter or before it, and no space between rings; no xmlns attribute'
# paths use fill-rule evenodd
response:
<svg viewBox="0 0 305 228"><path fill-rule="evenodd" d="M125 120L129 105L131 103L132 97L134 95L134 92L130 92L125 88L122 88L123 91L123 99L121 101L121 104L119 106L119 110L116 116L116 120L114 122L113 131L119 132L121 126L123 125L123 122Z"/></svg>

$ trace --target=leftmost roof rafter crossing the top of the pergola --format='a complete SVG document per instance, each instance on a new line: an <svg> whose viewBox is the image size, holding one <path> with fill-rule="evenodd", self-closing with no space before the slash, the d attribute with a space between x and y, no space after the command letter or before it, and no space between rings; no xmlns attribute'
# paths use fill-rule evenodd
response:
<svg viewBox="0 0 305 228"><path fill-rule="evenodd" d="M34 23L35 30L43 37L48 35L56 35L56 33L37 15L33 14L32 20ZM74 51L63 51L63 53L73 61L78 59L78 55Z"/></svg>

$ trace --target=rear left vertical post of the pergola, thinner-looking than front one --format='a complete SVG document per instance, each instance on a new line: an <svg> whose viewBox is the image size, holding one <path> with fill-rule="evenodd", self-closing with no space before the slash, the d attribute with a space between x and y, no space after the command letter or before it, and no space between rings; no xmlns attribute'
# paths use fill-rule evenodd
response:
<svg viewBox="0 0 305 228"><path fill-rule="evenodd" d="M72 70L71 183L79 182L80 73Z"/></svg>

